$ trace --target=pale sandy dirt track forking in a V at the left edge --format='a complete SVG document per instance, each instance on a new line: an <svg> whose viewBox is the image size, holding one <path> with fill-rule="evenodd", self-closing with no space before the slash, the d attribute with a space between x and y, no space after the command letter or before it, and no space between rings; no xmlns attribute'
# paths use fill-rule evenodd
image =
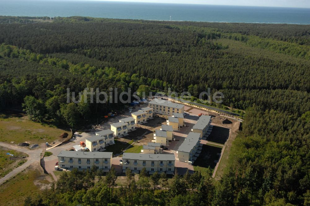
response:
<svg viewBox="0 0 310 206"><path fill-rule="evenodd" d="M29 157L27 157L27 162L25 162L24 164L22 164L18 168L13 169L10 173L8 173L6 176L4 176L0 179L0 185L3 184L5 181L9 180L11 177L14 177L15 175L17 175L18 173L20 173L21 171L23 171L27 167L29 167L31 164L37 164L37 165L39 164L40 156L41 156L40 154L42 152L42 147L30 150L28 148L19 147L19 146L12 145L12 144L6 143L6 142L0 142L0 146L7 147L7 148L10 148L12 150L24 152L24 153L29 155Z"/></svg>

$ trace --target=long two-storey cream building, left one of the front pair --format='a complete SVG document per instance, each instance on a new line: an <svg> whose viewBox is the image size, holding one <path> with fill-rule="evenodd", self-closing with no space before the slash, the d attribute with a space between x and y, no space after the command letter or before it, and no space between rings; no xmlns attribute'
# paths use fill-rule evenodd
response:
<svg viewBox="0 0 310 206"><path fill-rule="evenodd" d="M58 157L60 168L72 170L91 169L95 165L98 169L108 172L112 166L112 152L82 152L61 151Z"/></svg>

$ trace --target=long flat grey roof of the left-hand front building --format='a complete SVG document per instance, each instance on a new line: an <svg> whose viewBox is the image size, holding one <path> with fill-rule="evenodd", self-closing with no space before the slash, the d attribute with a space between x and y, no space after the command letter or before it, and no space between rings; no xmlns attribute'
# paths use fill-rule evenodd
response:
<svg viewBox="0 0 310 206"><path fill-rule="evenodd" d="M57 157L73 157L73 158L111 158L113 152L78 152L78 151L61 151Z"/></svg>

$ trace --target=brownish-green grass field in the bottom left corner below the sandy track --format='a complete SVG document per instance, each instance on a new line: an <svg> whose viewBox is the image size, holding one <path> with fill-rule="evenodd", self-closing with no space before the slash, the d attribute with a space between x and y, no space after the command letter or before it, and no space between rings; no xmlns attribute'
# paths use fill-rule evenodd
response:
<svg viewBox="0 0 310 206"><path fill-rule="evenodd" d="M2 184L0 186L0 205L23 205L24 199L27 196L38 195L40 193L40 188L36 186L34 182L36 181L38 184L43 185L43 182L38 180L40 176L42 176L42 174L38 169L27 168L27 170L20 172L18 175Z"/></svg>

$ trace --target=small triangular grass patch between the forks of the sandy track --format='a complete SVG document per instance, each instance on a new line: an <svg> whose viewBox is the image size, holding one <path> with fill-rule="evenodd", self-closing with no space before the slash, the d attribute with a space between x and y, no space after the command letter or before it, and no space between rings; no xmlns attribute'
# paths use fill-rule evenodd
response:
<svg viewBox="0 0 310 206"><path fill-rule="evenodd" d="M14 156L7 155L7 153ZM27 159L22 158L23 156L28 157L25 153L0 147L0 177L4 177L14 168L25 163Z"/></svg>

